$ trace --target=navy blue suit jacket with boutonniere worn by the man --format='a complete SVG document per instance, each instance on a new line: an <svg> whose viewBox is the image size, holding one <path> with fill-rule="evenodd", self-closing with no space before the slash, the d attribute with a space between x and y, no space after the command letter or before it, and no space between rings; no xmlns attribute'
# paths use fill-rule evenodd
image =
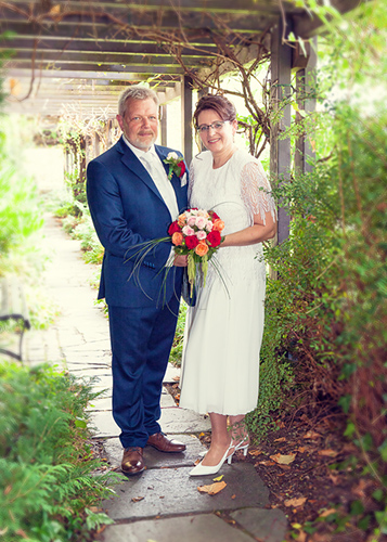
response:
<svg viewBox="0 0 387 542"><path fill-rule="evenodd" d="M163 160L171 149L155 145ZM168 165L164 164L166 172ZM186 184L173 173L179 211L186 209ZM99 299L116 307L150 307L180 298L182 268L165 264L170 241L139 259L139 244L168 236L170 212L151 176L124 139L87 169L87 196L96 234L105 248ZM177 217L172 217L176 220ZM134 247L134 248L133 248Z"/></svg>

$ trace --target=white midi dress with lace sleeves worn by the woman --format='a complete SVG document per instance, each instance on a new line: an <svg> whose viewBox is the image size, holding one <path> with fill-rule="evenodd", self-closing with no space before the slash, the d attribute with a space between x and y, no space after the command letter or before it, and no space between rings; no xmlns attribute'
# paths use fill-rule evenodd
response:
<svg viewBox="0 0 387 542"><path fill-rule="evenodd" d="M225 224L223 235L251 225L254 215L265 221L270 211L275 219L270 190L260 162L243 150L218 169L212 169L209 151L192 162L190 207L214 209ZM186 315L180 406L246 414L258 401L266 289L262 246L224 247L212 258L221 278L209 262L206 285Z"/></svg>

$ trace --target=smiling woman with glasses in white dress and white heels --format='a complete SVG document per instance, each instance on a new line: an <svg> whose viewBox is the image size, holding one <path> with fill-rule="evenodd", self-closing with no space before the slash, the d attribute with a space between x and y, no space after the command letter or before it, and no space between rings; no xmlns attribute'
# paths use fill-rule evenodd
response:
<svg viewBox="0 0 387 542"><path fill-rule="evenodd" d="M191 476L216 474L232 454L248 448L244 417L258 400L266 267L261 242L273 237L276 215L259 160L236 147L234 105L203 96L194 113L205 147L191 164L190 207L214 209L224 240L207 283L190 308L180 406L209 413L211 446ZM231 430L228 430L230 425Z"/></svg>

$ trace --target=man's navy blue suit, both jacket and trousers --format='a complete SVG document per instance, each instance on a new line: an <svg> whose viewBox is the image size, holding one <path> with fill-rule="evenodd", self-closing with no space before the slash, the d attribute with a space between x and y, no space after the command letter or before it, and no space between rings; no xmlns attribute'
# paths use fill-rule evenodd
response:
<svg viewBox="0 0 387 542"><path fill-rule="evenodd" d="M155 150L160 160L172 151L158 145ZM186 185L181 186L175 173L170 182L181 212L188 205ZM172 267L165 280L172 246L168 241L152 249L133 273L138 248L132 247L168 236L171 217L151 176L122 138L89 163L87 194L105 248L99 299L106 299L109 313L113 415L124 448L143 448L147 437L160 430L159 399L183 270Z"/></svg>

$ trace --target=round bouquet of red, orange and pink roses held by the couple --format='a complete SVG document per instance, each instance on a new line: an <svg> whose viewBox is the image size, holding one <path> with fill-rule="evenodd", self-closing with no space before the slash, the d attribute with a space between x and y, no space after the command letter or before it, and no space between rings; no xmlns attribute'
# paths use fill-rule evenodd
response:
<svg viewBox="0 0 387 542"><path fill-rule="evenodd" d="M218 250L224 222L214 210L189 209L179 216L168 228L175 245L175 254L188 255L188 276L193 286L199 274L203 286L206 285L208 261Z"/></svg>

